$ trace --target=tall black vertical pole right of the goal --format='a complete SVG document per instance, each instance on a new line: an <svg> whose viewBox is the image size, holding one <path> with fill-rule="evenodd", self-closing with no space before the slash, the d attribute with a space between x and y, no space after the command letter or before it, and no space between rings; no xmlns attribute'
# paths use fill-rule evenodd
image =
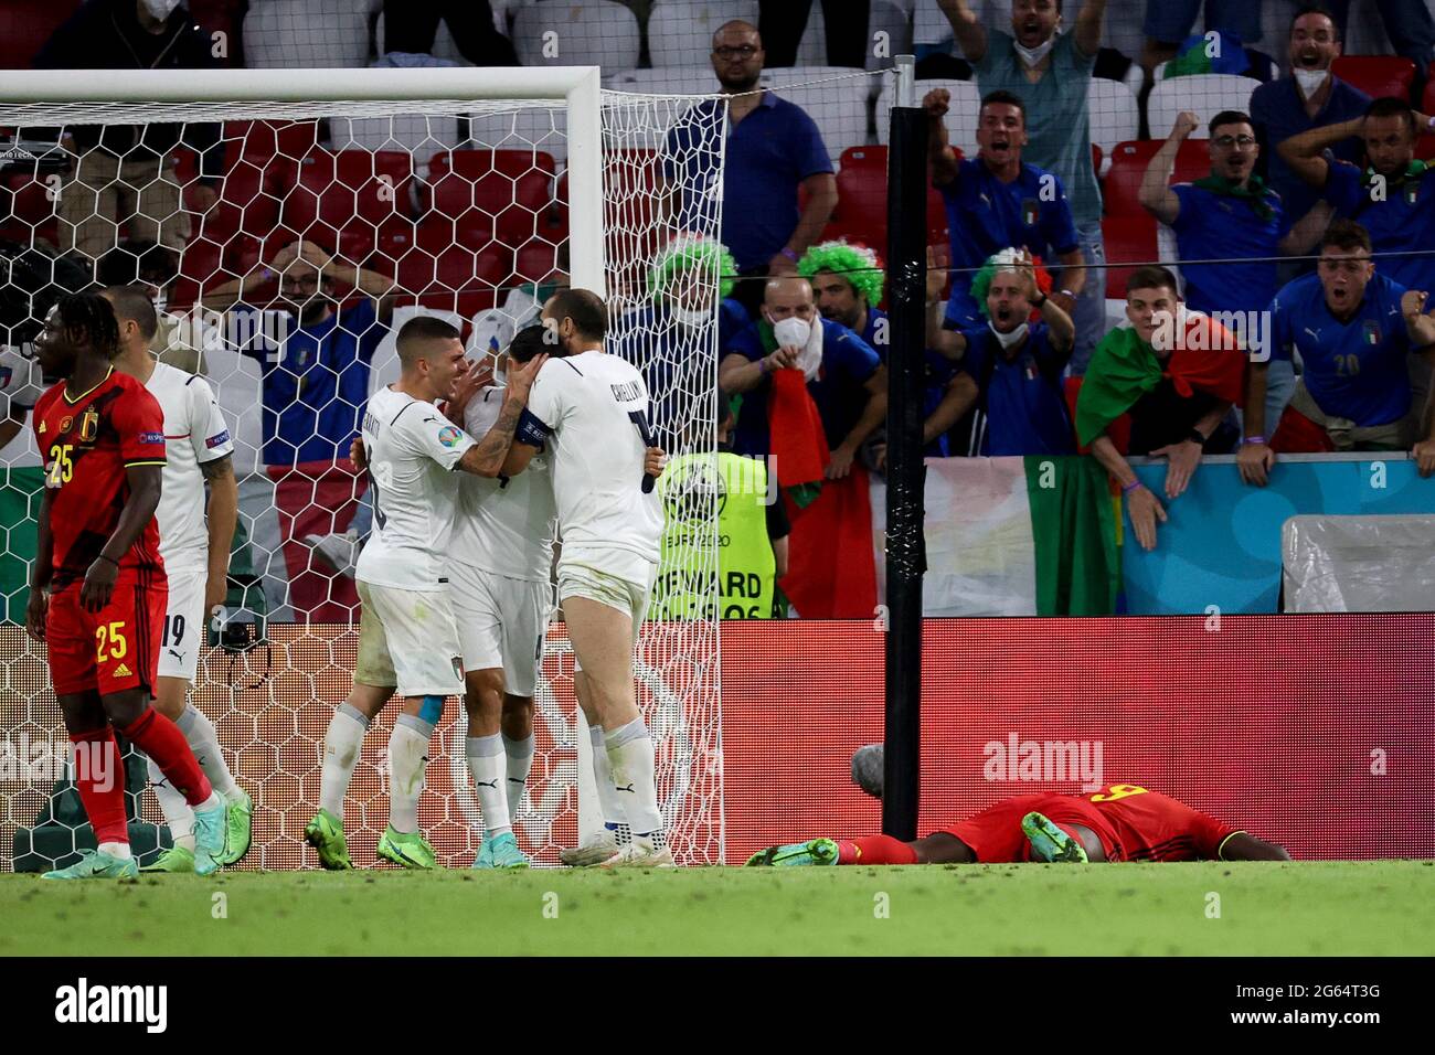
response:
<svg viewBox="0 0 1435 1055"><path fill-rule="evenodd" d="M887 728L883 831L917 837L921 748L921 454L927 299L927 115L894 106L887 155Z"/></svg>

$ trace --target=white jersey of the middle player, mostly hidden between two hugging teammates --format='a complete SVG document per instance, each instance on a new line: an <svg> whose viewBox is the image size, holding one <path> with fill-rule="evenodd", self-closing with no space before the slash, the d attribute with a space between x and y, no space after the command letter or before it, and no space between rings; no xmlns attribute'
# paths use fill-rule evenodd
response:
<svg viewBox="0 0 1435 1055"><path fill-rule="evenodd" d="M474 396L464 411L468 435L482 438L494 428L502 405L504 389L498 386ZM449 558L498 576L547 583L558 530L548 452L535 454L517 477L464 474L458 491Z"/></svg>

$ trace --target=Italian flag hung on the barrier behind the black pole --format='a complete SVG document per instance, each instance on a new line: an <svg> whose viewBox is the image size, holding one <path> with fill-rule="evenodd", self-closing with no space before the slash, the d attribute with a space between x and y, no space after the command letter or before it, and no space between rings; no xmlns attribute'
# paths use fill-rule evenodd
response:
<svg viewBox="0 0 1435 1055"><path fill-rule="evenodd" d="M1109 616L1121 584L1116 500L1092 458L927 461L927 616ZM885 591L887 487L872 561Z"/></svg>

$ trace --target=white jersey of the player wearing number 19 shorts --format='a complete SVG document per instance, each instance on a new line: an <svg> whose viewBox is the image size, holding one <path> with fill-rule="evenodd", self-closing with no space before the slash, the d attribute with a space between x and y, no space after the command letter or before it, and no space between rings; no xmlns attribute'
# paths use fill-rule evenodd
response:
<svg viewBox="0 0 1435 1055"><path fill-rule="evenodd" d="M145 388L165 413L165 471L155 511L159 555L166 571L204 571L210 567L210 530L199 466L232 452L234 442L204 378L155 363Z"/></svg>

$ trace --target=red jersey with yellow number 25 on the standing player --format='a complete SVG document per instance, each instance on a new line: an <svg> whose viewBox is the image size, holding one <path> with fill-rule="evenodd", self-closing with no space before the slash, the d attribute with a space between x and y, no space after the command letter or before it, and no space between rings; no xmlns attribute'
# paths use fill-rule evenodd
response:
<svg viewBox="0 0 1435 1055"><path fill-rule="evenodd" d="M125 469L165 464L165 415L144 385L113 367L76 398L66 395L65 385L55 385L34 405L34 442L44 461L44 487L53 489L52 590L85 581L115 533L129 501ZM119 568L121 574L164 570L154 518Z"/></svg>

